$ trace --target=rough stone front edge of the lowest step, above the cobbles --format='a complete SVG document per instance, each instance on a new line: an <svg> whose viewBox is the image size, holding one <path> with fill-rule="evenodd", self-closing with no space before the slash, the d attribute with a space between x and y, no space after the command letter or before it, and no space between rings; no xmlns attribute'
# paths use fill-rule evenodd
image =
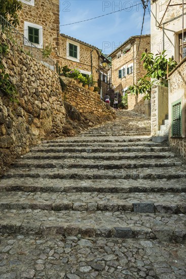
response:
<svg viewBox="0 0 186 279"><path fill-rule="evenodd" d="M36 234L36 235L55 235L81 237L115 237L115 238L137 238L137 239L159 239L161 241L175 241L184 243L186 230L172 229L172 227L160 226L153 228L145 227L91 227L78 226L77 224L48 224L31 223L28 221L1 222L0 232Z"/></svg>

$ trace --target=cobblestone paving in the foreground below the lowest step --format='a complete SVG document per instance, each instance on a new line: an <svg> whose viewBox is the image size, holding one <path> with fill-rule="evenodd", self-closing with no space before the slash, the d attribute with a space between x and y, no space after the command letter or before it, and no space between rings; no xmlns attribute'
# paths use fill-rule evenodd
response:
<svg viewBox="0 0 186 279"><path fill-rule="evenodd" d="M1 277L183 279L185 246L159 240L81 235L1 237Z"/></svg>

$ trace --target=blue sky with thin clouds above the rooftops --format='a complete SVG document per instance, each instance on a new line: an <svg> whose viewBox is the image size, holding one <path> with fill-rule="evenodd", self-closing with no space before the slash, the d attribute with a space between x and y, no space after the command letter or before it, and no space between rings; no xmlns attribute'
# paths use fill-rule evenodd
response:
<svg viewBox="0 0 186 279"><path fill-rule="evenodd" d="M132 7L137 5L136 7ZM121 9L127 8L127 11ZM60 26L60 33L77 38L109 54L129 37L140 35L143 9L140 0L60 0L60 25L116 12L94 20ZM150 33L146 10L143 34Z"/></svg>

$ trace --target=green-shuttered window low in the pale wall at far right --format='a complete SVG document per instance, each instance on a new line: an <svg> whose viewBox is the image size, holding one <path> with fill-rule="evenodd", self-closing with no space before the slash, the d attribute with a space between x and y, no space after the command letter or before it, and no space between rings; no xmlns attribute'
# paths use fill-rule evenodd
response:
<svg viewBox="0 0 186 279"><path fill-rule="evenodd" d="M172 104L172 136L181 136L181 101Z"/></svg>

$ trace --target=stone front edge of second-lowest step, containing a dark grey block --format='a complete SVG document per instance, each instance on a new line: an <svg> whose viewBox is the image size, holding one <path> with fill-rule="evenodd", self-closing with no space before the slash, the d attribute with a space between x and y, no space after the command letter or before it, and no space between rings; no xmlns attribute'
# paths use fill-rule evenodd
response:
<svg viewBox="0 0 186 279"><path fill-rule="evenodd" d="M42 201L41 201L42 202ZM136 213L171 213L185 214L186 204L163 204L153 202L136 202L136 203L97 203L97 202L60 202L60 203L39 203L39 202L0 202L1 210L47 210L47 211L127 211Z"/></svg>

